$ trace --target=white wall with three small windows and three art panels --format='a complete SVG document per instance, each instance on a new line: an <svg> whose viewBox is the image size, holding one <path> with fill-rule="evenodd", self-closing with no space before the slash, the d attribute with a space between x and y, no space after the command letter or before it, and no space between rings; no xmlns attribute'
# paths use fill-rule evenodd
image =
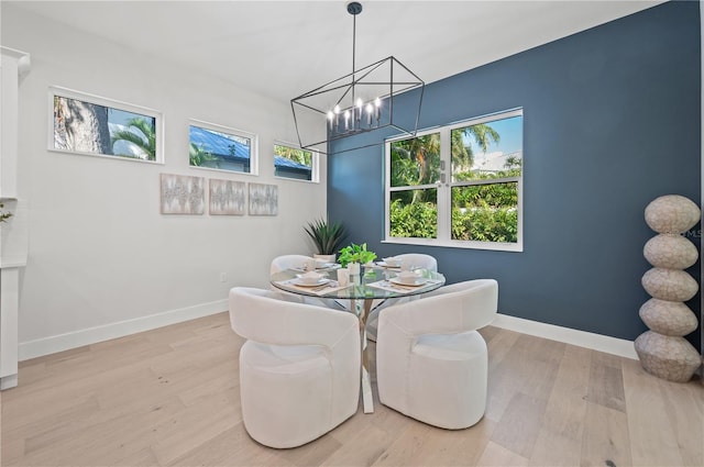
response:
<svg viewBox="0 0 704 467"><path fill-rule="evenodd" d="M30 205L20 358L224 311L232 286L267 287L273 256L312 253L302 225L326 211L324 160L321 184L274 177L274 140L295 141L287 102L11 4L2 5L1 21L2 45L32 60L20 88L19 191ZM47 151L52 85L161 110L165 164ZM258 134L260 175L190 168L189 118ZM162 215L162 173L276 184L278 215Z"/></svg>

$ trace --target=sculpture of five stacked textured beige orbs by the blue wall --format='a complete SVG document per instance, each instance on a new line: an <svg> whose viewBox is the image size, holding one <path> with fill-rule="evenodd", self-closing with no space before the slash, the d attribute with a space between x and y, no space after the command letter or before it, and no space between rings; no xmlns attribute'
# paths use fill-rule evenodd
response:
<svg viewBox="0 0 704 467"><path fill-rule="evenodd" d="M698 257L696 246L682 233L700 221L701 211L690 199L667 194L646 208L646 223L659 235L644 247L653 267L642 276L642 287L652 297L640 308L640 319L650 329L635 346L646 371L669 381L685 382L702 364L698 352L684 336L696 330L696 315L683 302L698 290L684 269Z"/></svg>

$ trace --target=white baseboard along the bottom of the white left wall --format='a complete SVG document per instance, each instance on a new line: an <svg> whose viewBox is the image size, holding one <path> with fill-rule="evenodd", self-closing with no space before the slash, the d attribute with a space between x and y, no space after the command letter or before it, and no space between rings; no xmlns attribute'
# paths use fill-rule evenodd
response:
<svg viewBox="0 0 704 467"><path fill-rule="evenodd" d="M208 316L220 313L228 309L228 300L218 300L209 303L200 303L194 307L169 310L163 313L151 314L148 316L135 318L120 321L118 323L102 326L89 327L66 334L38 338L36 341L22 342L19 344L19 359L41 357L43 355L55 354L84 345L96 344L111 338L123 337L156 327L176 324L196 318Z"/></svg>

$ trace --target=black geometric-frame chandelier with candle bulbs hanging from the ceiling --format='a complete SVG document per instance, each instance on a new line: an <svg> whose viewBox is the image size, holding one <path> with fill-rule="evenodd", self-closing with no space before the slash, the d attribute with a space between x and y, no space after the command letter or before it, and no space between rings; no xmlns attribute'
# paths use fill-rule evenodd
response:
<svg viewBox="0 0 704 467"><path fill-rule="evenodd" d="M353 1L346 9L352 15L352 73L290 101L300 147L321 154L383 144L383 137L344 141L381 129L395 129L408 136L418 131L426 84L393 56L355 69L356 15L362 4ZM408 92L411 90L418 92ZM396 111L394 105L404 92L408 92L404 111Z"/></svg>

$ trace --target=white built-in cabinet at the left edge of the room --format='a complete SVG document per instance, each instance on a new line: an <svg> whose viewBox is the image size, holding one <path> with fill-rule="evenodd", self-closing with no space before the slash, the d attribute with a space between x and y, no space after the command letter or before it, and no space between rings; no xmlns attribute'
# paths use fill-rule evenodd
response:
<svg viewBox="0 0 704 467"><path fill-rule="evenodd" d="M20 270L28 258L28 205L18 189L19 91L30 56L0 47L0 203L12 218L0 223L0 389L18 385Z"/></svg>

